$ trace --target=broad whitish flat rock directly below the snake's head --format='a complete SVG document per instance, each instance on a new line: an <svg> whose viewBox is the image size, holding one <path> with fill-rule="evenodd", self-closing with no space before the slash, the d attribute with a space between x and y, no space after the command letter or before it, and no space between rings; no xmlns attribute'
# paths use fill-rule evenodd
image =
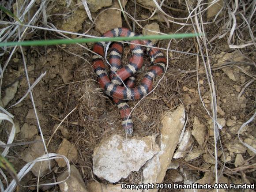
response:
<svg viewBox="0 0 256 192"><path fill-rule="evenodd" d="M103 140L94 149L94 174L113 183L128 177L160 150L157 144L151 149L152 142L151 136L126 139L113 135Z"/></svg>

